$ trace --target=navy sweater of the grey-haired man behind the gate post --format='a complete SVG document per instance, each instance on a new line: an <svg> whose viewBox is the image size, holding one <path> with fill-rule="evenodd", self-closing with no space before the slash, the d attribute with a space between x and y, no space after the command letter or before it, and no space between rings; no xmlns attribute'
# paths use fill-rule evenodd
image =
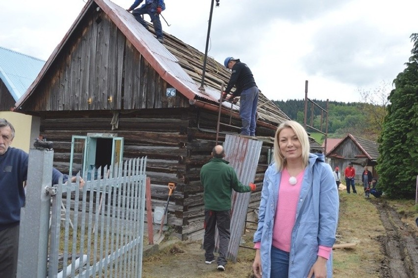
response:
<svg viewBox="0 0 418 278"><path fill-rule="evenodd" d="M0 155L0 230L13 227L20 222L20 208L25 204L23 182L27 179L29 155L9 147ZM52 169L52 183L57 184L61 172ZM68 180L63 175L63 182Z"/></svg>

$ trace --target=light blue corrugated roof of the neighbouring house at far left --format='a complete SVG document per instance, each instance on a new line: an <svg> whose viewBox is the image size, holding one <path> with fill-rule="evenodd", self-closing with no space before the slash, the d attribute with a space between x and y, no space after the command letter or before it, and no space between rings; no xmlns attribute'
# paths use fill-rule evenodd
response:
<svg viewBox="0 0 418 278"><path fill-rule="evenodd" d="M18 101L38 76L45 61L0 47L0 79Z"/></svg>

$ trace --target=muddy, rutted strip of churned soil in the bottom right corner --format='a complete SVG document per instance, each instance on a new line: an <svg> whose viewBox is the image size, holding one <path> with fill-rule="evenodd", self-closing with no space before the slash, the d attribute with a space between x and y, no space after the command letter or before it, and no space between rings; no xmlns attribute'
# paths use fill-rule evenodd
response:
<svg viewBox="0 0 418 278"><path fill-rule="evenodd" d="M418 278L418 233L402 222L402 215L386 202L373 200L386 230L378 238L385 259L381 261L382 278Z"/></svg>

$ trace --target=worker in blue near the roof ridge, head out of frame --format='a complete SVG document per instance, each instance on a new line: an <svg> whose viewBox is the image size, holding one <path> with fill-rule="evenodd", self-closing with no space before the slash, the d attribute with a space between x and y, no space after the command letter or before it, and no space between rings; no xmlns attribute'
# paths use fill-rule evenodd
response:
<svg viewBox="0 0 418 278"><path fill-rule="evenodd" d="M127 9L128 12L132 11L132 15L136 21L142 24L145 29L149 30L148 24L142 18L142 15L148 14L151 18L151 22L154 25L156 31L157 40L160 43L164 42L164 36L162 34L161 21L159 20L160 13L165 10L164 0L145 0L145 4L135 9L143 0L135 0L131 7Z"/></svg>

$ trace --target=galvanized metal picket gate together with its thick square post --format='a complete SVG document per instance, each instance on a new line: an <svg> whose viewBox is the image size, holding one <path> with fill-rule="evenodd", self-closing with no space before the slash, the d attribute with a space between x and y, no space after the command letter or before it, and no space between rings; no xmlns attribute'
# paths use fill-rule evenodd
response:
<svg viewBox="0 0 418 278"><path fill-rule="evenodd" d="M53 151L29 152L18 277L141 277L146 158L84 173L82 188L79 176L75 183L41 185L41 200L35 200L39 199L39 191L34 196L30 194L30 175L39 169L36 164L31 165L31 160L39 164L51 152L53 155ZM49 178L51 184L48 173L52 172L52 161L51 168L43 169L42 179ZM39 173L36 176L39 178ZM35 206L30 205L32 202ZM39 207L48 209L39 209L34 217L31 210L36 209L37 202ZM49 237L44 235L45 231L47 234L50 231ZM35 246L29 241L35 241Z"/></svg>

